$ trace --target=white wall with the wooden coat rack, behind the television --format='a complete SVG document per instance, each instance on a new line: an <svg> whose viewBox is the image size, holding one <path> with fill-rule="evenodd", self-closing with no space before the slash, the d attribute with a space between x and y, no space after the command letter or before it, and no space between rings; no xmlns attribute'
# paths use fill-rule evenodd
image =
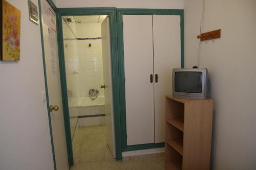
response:
<svg viewBox="0 0 256 170"><path fill-rule="evenodd" d="M202 1L184 1L185 67L197 65ZM256 169L256 1L205 0L202 32L221 38L202 42L214 99L212 169Z"/></svg>

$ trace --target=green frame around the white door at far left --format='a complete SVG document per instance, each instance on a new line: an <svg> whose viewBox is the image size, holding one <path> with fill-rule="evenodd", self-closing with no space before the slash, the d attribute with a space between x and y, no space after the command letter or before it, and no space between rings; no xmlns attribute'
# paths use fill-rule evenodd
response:
<svg viewBox="0 0 256 170"><path fill-rule="evenodd" d="M58 10L52 0L46 0L47 3L51 6L53 11L56 13L56 20L58 15ZM45 59L45 45L44 45L44 34L42 31L42 14L41 14L41 1L38 0L38 10L39 10L39 21L40 21L40 33L41 33L41 45L42 45L42 63L44 66L44 77L45 77L45 86L46 86L46 103L47 103L47 111L48 111L48 119L49 119L49 130L50 130L50 137L51 137L51 144L52 144L52 156L53 156L53 165L54 170L56 170L56 159L55 159L55 152L54 152L54 144L53 144L53 134L52 134L52 120L51 120L51 113L50 113L50 105L49 105L49 95L48 95L48 85L47 85L47 74L46 74L46 59ZM58 33L58 23L56 23L57 33ZM62 96L63 98L63 96Z"/></svg>

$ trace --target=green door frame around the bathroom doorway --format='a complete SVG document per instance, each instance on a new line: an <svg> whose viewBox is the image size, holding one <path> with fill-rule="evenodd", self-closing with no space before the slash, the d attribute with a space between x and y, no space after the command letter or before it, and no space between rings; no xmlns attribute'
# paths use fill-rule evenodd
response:
<svg viewBox="0 0 256 170"><path fill-rule="evenodd" d="M68 94L66 82L66 69L63 48L63 30L62 16L74 15L108 15L110 16L110 34L111 34L111 58L112 58L112 84L113 84L113 105L114 105L114 124L115 124L115 143L116 160L122 160L121 150L121 125L120 125L120 104L119 104L119 74L118 74L118 48L117 48L117 27L116 27L116 8L58 8L58 39L59 39L59 61L60 61L60 79L62 90L62 102L65 117L65 128L67 147L70 166L74 164L72 155L72 139L70 133Z"/></svg>

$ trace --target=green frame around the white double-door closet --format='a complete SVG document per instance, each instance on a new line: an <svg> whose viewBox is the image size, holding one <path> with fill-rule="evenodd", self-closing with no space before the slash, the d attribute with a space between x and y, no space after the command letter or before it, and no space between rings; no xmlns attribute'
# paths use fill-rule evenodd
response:
<svg viewBox="0 0 256 170"><path fill-rule="evenodd" d="M117 9L117 36L119 58L119 86L120 86L120 120L122 131L122 151L161 148L164 143L148 143L127 146L125 83L124 83L124 53L123 53L123 15L180 15L181 26L181 67L184 67L184 10L180 9Z"/></svg>

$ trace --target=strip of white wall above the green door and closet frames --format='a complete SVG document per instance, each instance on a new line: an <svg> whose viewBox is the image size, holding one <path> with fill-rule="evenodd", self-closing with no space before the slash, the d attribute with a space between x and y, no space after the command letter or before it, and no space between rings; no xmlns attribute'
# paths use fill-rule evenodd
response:
<svg viewBox="0 0 256 170"><path fill-rule="evenodd" d="M183 0L56 0L58 8L116 7L116 8L163 8L183 9Z"/></svg>

